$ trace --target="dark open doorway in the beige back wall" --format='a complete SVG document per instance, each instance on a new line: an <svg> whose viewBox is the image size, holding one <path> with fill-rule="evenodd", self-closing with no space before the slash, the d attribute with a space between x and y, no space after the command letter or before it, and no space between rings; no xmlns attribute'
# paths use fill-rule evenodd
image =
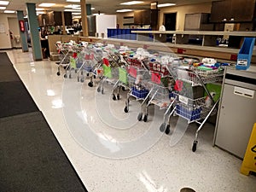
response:
<svg viewBox="0 0 256 192"><path fill-rule="evenodd" d="M176 31L177 13L164 14L164 26L166 31ZM166 34L166 41L172 42L173 34Z"/></svg>

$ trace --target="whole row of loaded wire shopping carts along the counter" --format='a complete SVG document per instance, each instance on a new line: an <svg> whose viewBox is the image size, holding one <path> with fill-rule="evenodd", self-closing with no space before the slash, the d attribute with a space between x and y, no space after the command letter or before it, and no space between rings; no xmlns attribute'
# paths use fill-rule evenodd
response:
<svg viewBox="0 0 256 192"><path fill-rule="evenodd" d="M102 94L106 82L113 84L113 100L120 99L120 90L127 91L124 112L129 113L132 98L141 101L139 121L148 121L148 108L154 105L165 110L160 131L166 134L170 133L172 115L187 119L189 124L198 123L192 146L196 150L199 131L218 107L217 91L209 91L207 84L222 81L224 69L219 64L208 66L196 58L111 44L61 44L58 49L64 50L58 75L60 66L67 62L64 78L72 78L74 69L78 81L83 83L87 73L90 87L93 78L100 79L96 90ZM65 61L67 58L69 61Z"/></svg>

